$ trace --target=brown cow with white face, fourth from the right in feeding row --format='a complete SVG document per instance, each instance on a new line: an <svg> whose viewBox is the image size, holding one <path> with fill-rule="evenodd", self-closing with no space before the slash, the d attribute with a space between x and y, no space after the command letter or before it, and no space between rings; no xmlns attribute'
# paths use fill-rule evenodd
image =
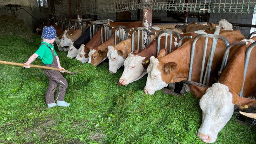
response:
<svg viewBox="0 0 256 144"><path fill-rule="evenodd" d="M159 29L159 28L157 27L156 29ZM156 30L156 29L152 30L152 32L155 32L156 34L151 35L151 40L154 40L154 38L160 32L159 31L160 29L159 30ZM137 46L138 46L137 44L138 44L138 34L135 34L134 49L137 49ZM124 65L124 60L127 58L130 52L132 52L132 38L128 38L127 40L124 40L123 42L120 42L115 46L108 46L108 52L107 52L108 63L109 63L108 71L111 74L116 73L117 70Z"/></svg>

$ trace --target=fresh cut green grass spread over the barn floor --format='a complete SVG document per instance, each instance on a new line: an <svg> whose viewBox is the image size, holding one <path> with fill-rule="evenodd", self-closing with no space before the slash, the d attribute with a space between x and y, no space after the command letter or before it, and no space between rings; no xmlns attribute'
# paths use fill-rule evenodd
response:
<svg viewBox="0 0 256 144"><path fill-rule="evenodd" d="M0 60L26 62L39 44L40 36L0 36ZM192 94L146 95L146 77L120 87L122 68L110 74L108 64L94 67L67 58L67 52L57 54L62 67L84 74L64 74L67 108L47 108L48 78L41 69L0 65L0 143L203 144L197 136L202 111ZM232 116L216 143L255 141L256 128Z"/></svg>

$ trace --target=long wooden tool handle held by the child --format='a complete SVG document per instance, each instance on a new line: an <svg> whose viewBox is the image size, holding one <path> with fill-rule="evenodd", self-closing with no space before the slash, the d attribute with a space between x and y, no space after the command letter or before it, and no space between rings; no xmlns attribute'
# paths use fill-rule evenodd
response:
<svg viewBox="0 0 256 144"><path fill-rule="evenodd" d="M7 61L3 61L3 60L0 60L0 64L8 64L8 65L13 65L13 66L28 66L27 64L22 64L22 63L17 63L17 62L7 62ZM30 67L32 67L32 68L44 68L44 69L48 69L48 70L63 71L60 68L52 68L52 67L49 67L49 66L39 66L39 65L34 65L34 64L30 64ZM65 72L68 73L68 74L75 74L74 72L71 72L71 71L68 71L68 70L65 70Z"/></svg>

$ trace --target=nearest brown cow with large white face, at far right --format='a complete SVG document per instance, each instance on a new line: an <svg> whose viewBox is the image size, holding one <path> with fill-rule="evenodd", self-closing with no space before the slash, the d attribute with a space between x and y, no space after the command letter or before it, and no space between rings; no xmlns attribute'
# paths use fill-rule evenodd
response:
<svg viewBox="0 0 256 144"><path fill-rule="evenodd" d="M218 83L212 84L210 88L190 86L191 92L200 98L202 109L202 124L198 129L199 138L206 142L215 142L218 133L230 120L234 105L240 108L248 108L256 104L256 100L247 97L256 97L256 49L250 54L248 69L244 83L244 97L238 94L244 80L244 59L248 46L256 40L256 37L248 41L247 45L234 46L230 52L228 64L222 72Z"/></svg>

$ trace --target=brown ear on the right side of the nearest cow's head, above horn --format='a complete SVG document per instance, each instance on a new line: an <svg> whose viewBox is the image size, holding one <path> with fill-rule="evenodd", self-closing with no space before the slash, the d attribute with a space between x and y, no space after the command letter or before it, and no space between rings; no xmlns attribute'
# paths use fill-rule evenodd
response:
<svg viewBox="0 0 256 144"><path fill-rule="evenodd" d="M238 96L238 94L234 94L234 93L232 93L232 95L233 95L233 104L237 104L240 109L248 108L256 104L256 100L240 97Z"/></svg>

